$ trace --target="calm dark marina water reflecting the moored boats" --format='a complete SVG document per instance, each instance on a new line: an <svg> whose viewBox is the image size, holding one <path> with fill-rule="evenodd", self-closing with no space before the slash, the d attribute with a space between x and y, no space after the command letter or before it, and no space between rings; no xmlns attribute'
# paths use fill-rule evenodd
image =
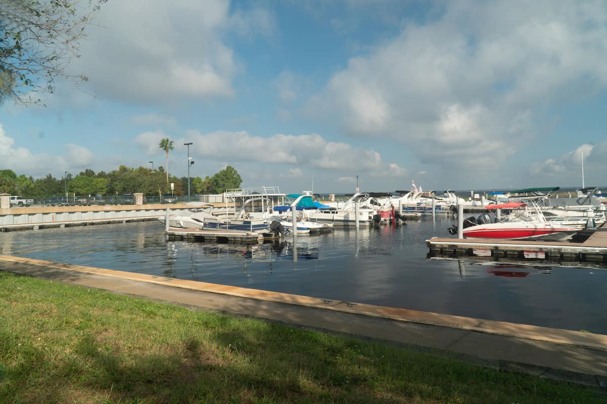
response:
<svg viewBox="0 0 607 404"><path fill-rule="evenodd" d="M35 259L607 334L607 270L428 259L450 219L298 237L290 245L167 242L158 222L0 233Z"/></svg>

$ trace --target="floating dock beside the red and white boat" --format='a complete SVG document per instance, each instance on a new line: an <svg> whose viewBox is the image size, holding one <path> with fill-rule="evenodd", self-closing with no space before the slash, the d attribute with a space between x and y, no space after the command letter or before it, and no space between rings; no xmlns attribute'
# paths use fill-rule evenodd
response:
<svg viewBox="0 0 607 404"><path fill-rule="evenodd" d="M598 228L582 243L432 237L426 240L426 245L430 248L431 257L459 255L607 263L605 226Z"/></svg>

